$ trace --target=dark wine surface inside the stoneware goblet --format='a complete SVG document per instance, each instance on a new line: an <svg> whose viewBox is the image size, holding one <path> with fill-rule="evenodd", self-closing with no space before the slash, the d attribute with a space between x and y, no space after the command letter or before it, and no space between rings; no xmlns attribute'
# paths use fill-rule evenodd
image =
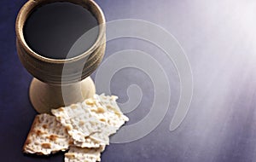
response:
<svg viewBox="0 0 256 162"><path fill-rule="evenodd" d="M93 30L83 46L73 50L75 53L68 54L73 44L97 25L96 18L82 6L66 2L49 3L32 11L23 32L26 43L38 55L66 59L81 55L90 49L96 42L98 30Z"/></svg>

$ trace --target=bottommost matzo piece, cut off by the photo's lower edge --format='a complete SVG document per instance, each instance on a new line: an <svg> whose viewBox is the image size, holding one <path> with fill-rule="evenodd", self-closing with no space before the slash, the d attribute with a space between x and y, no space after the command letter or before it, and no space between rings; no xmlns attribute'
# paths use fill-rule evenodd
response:
<svg viewBox="0 0 256 162"><path fill-rule="evenodd" d="M71 147L65 153L65 162L96 162L101 161L101 153L105 146L99 148L77 148Z"/></svg>

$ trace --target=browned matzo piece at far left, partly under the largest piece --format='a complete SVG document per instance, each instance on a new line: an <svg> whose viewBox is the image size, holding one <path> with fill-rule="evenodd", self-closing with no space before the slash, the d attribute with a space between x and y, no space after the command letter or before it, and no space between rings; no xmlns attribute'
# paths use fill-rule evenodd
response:
<svg viewBox="0 0 256 162"><path fill-rule="evenodd" d="M23 147L24 153L48 155L58 151L66 151L73 143L65 127L55 116L39 114L33 121L32 128Z"/></svg>

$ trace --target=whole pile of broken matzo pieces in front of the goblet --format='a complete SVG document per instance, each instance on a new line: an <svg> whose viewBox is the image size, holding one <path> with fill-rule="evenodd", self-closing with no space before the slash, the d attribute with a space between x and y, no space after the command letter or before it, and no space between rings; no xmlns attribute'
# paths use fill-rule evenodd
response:
<svg viewBox="0 0 256 162"><path fill-rule="evenodd" d="M116 133L129 119L120 111L116 96L95 95L82 103L39 114L27 136L25 153L49 154L66 151L66 162L101 160Z"/></svg>

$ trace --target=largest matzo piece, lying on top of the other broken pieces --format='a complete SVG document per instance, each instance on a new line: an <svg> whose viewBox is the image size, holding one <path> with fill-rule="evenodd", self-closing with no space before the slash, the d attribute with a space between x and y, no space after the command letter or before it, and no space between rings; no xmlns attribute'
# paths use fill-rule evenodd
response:
<svg viewBox="0 0 256 162"><path fill-rule="evenodd" d="M52 113L67 128L76 146L97 148L108 145L108 136L128 121L116 99L116 96L95 95L82 103L52 110Z"/></svg>

